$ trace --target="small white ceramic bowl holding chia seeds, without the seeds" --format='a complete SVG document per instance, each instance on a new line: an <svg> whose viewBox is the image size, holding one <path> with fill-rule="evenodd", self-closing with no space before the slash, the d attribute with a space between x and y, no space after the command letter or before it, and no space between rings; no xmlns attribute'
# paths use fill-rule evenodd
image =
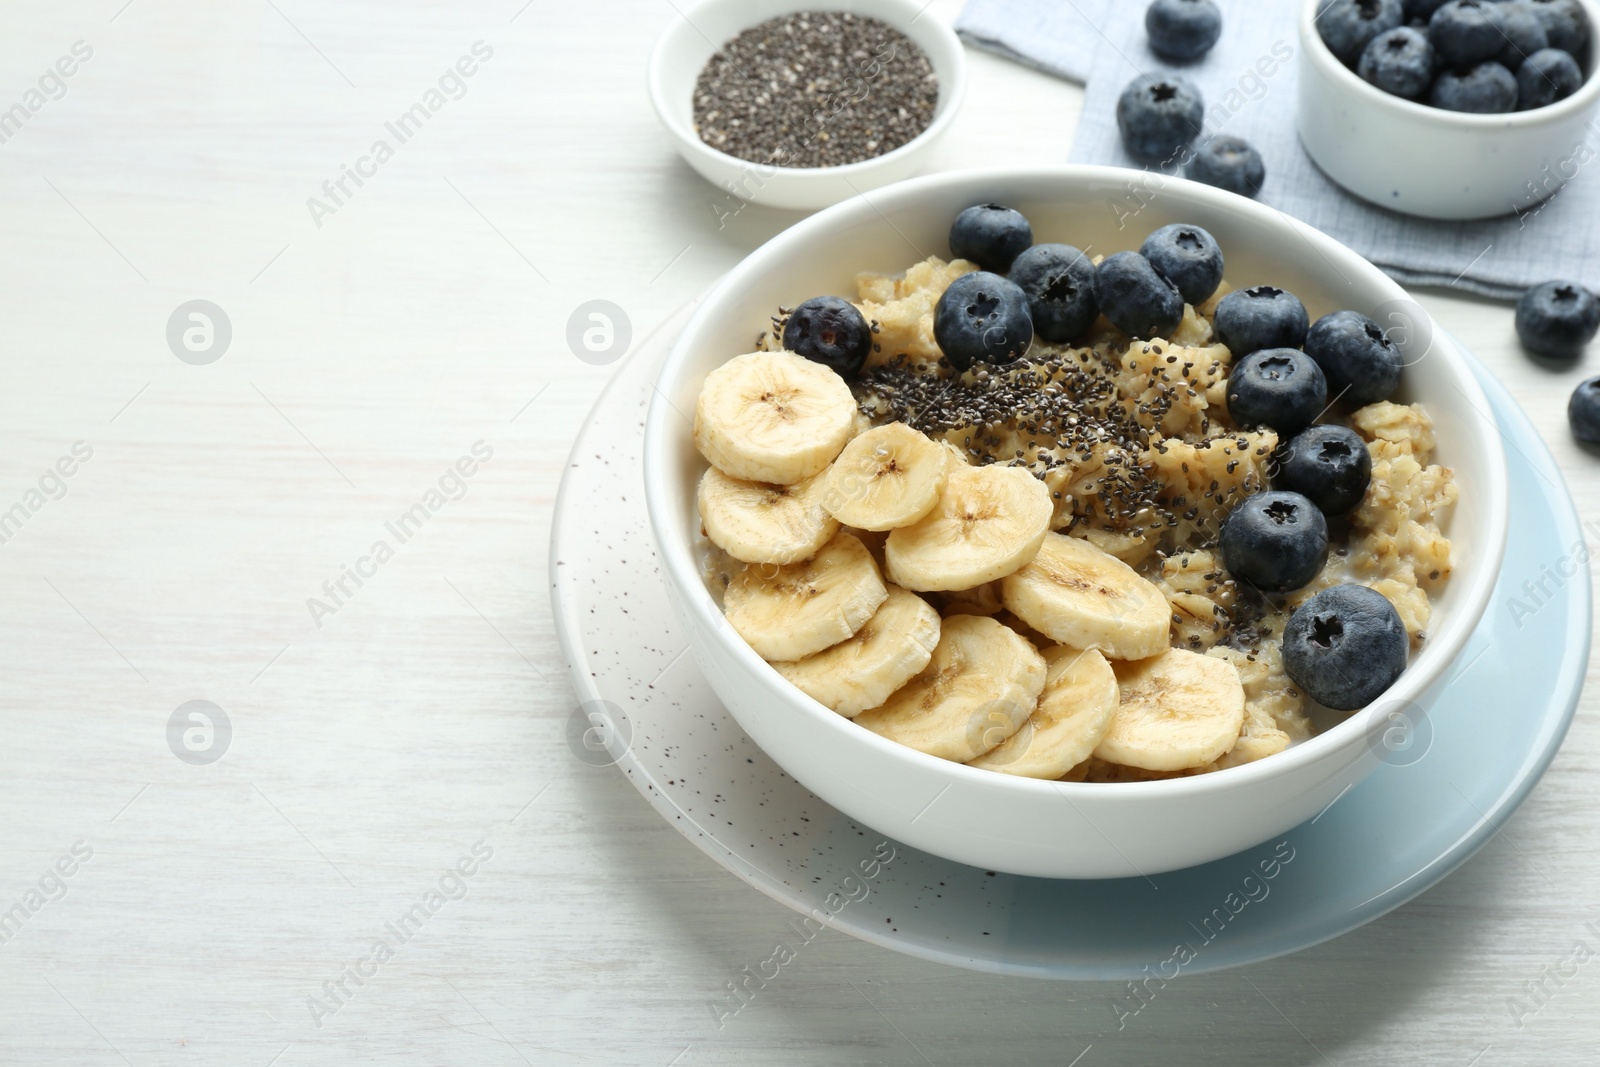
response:
<svg viewBox="0 0 1600 1067"><path fill-rule="evenodd" d="M845 166L768 166L718 152L694 133L694 82L723 43L758 22L792 11L850 11L888 22L909 37L939 77L933 122L893 152ZM966 93L966 53L949 26L926 14L923 0L702 0L675 19L650 54L650 101L678 152L728 197L773 208L826 208L858 194L909 178L949 130Z"/></svg>

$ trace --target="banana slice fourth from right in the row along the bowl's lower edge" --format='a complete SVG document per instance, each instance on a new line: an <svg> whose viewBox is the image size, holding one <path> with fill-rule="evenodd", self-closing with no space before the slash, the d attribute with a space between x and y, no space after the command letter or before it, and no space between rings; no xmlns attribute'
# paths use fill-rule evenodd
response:
<svg viewBox="0 0 1600 1067"><path fill-rule="evenodd" d="M848 641L773 667L818 704L854 718L917 677L938 645L939 613L917 593L890 585L890 598Z"/></svg>

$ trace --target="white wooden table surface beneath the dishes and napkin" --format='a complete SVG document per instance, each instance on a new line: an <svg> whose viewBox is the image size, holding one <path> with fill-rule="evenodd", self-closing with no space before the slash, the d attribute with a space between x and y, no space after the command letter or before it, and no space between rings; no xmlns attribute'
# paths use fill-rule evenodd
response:
<svg viewBox="0 0 1600 1067"><path fill-rule="evenodd" d="M747 208L718 230L715 192L658 131L643 67L674 18L664 0L0 13L0 110L93 50L0 144L0 514L22 504L0 544L0 910L22 905L0 1062L1594 1062L1600 963L1546 977L1520 1025L1509 998L1574 942L1600 952L1600 696L1442 886L1178 982L1122 1032L1112 985L832 931L717 1029L707 1000L790 917L573 758L546 576L566 448L608 376L570 354L568 315L610 299L640 336L795 219ZM461 58L474 74L402 144L386 123ZM1064 160L1080 99L974 54L936 165ZM344 166L365 178L333 200ZM203 365L166 339L192 299L232 326ZM1533 366L1506 307L1419 299L1600 517L1597 459L1565 429L1584 370ZM75 442L91 456L48 475ZM478 442L491 458L448 477ZM418 502L402 544L386 523ZM379 539L392 558L370 558ZM226 713L221 760L170 747L189 701ZM474 873L446 877L462 859ZM374 958L442 885L459 899Z"/></svg>

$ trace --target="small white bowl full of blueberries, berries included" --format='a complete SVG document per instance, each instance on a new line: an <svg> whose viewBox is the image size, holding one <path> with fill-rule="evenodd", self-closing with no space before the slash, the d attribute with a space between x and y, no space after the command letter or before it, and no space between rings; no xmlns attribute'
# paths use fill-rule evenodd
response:
<svg viewBox="0 0 1600 1067"><path fill-rule="evenodd" d="M1394 211L1523 213L1592 155L1597 24L1597 0L1307 0L1301 141Z"/></svg>

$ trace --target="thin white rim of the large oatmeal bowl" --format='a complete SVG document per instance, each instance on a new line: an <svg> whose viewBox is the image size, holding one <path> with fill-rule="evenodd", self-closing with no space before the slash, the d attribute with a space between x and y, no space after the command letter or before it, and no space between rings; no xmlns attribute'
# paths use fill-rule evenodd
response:
<svg viewBox="0 0 1600 1067"><path fill-rule="evenodd" d="M962 171L942 171L938 174L926 174L922 178L912 178L899 182L893 182L874 192L874 198L883 197L917 197L918 194L936 190L947 186L973 186L982 187L995 182L1006 181L1038 181L1051 182L1058 187L1070 186L1075 182L1102 181L1120 184L1126 181L1128 168L1120 166L1101 166L1101 165L1083 165L1083 163L1058 163L1058 165L1034 165L1034 166L1006 166L1006 168L982 168L982 170L962 170ZM1302 242L1309 242L1314 251L1320 256L1341 259L1344 267L1363 274L1374 280L1379 288L1387 288L1390 291L1390 299L1408 299L1405 288L1398 282L1382 274L1376 266L1366 261L1363 256L1347 248L1341 242L1328 237L1322 230L1317 230L1304 222L1291 219L1283 213L1270 208L1267 205L1238 197L1211 186L1194 182L1182 178L1166 179L1166 189L1171 192L1182 194L1190 200L1198 200L1208 203L1213 210L1235 211L1245 216L1254 216L1259 222L1267 222L1278 227L1291 227L1301 237ZM979 194L974 194L979 195ZM1344 721L1328 728L1326 731L1309 737L1299 744L1291 745L1285 752L1278 752L1270 758L1258 760L1254 763L1246 763L1242 766L1232 766L1221 771L1211 771L1206 774L1194 774L1186 777L1158 779L1158 781L1141 781L1141 782L1062 782L1048 779L1032 779L1013 774L1000 774L995 771L986 771L979 768L971 768L962 763L954 763L942 760L917 749L906 747L886 737L882 737L869 729L862 729L854 725L854 721L838 715L837 712L824 707L813 697L806 696L800 689L794 688L784 680L766 661L755 654L744 640L733 633L731 627L723 621L723 613L717 608L715 600L712 600L710 592L706 589L706 582L701 576L701 568L694 561L691 539L686 531L678 530L678 517L662 499L662 491L658 488L661 482L674 477L674 472L667 467L667 458L670 454L669 435L683 434L682 429L685 422L691 422L691 416L682 413L672 400L667 397L670 389L670 381L678 374L678 370L691 358L693 350L690 347L690 338L693 338L701 323L704 323L722 302L725 293L738 288L742 275L752 266L768 266L786 261L792 254L794 245L806 243L813 235L826 234L834 229L835 219L842 216L850 216L861 211L867 216L882 214L882 208L869 200L866 195L851 197L842 203L830 208L818 211L816 214L802 219L800 222L790 226L781 234L774 235L771 240L763 243L760 248L752 251L739 266L730 270L717 285L714 285L706 296L701 299L699 307L683 325L683 331L674 342L672 350L664 360L659 376L654 384L654 395L651 397L650 411L645 421L645 459L643 459L643 475L645 475L645 501L650 515L651 533L656 541L658 558L662 565L662 577L672 587L678 609L683 613L693 613L698 616L698 627L702 632L710 632L715 635L718 643L718 651L733 656L739 661L744 669L765 680L768 694L774 699L784 701L787 705L800 710L805 715L818 720L818 723L827 723L824 729L840 731L842 744L866 744L874 752L880 753L882 758L909 761L914 768L922 768L925 771L949 776L950 784L963 782L978 789L994 789L994 790L1016 790L1019 798L1032 797L1062 797L1074 795L1085 800L1104 800L1107 797L1125 797L1130 800L1155 800L1155 798L1181 798L1195 797L1213 792L1229 792L1235 789L1250 789L1258 782L1272 781L1277 777L1285 777L1291 774L1304 774L1309 768L1322 765L1325 760L1333 758L1334 763L1325 768L1322 777L1331 777L1342 773L1350 763L1362 760L1366 755L1366 745L1360 744L1362 733L1371 728L1370 717L1376 710L1386 707L1395 707L1397 704L1411 702L1422 696L1429 688L1440 681L1445 673L1454 664L1461 651L1469 643L1477 624L1482 621L1483 613L1488 609L1490 600L1493 598L1496 582L1499 581L1501 563L1506 552L1506 531L1507 531L1507 474L1506 474L1506 456L1496 435L1485 435L1488 445L1483 450L1486 458L1486 469L1482 470L1482 485L1475 485L1474 491L1478 493L1485 501L1485 514L1490 517L1488 528L1483 530L1483 547L1482 558L1485 566L1474 574L1470 574L1470 582L1466 585L1464 592L1459 593L1462 598L1456 608L1458 614L1451 619L1448 629L1448 641L1442 641L1437 633L1429 635L1429 649L1438 648L1442 643L1448 646L1448 651L1442 653L1442 657L1435 659L1435 665L1424 677L1422 673L1408 669L1402 673L1400 680L1395 681L1389 689L1384 691L1376 701L1373 701L1365 709L1352 712ZM1331 262L1331 259L1330 259ZM1413 301L1414 302L1414 301ZM1443 358L1451 370L1451 386L1461 394L1462 400L1475 413L1490 419L1493 424L1491 408L1488 406L1488 398L1483 394L1482 386L1472 374L1467 365L1467 357L1456 347L1454 341L1443 330L1434 330L1432 333L1434 355ZM667 389L662 389L662 382L669 382ZM1496 427L1498 429L1498 427ZM664 534L664 531L667 531ZM1459 568L1458 568L1459 571ZM1464 579L1467 576L1456 574L1456 579ZM691 645L698 645L691 638ZM696 649L702 651L702 649ZM1427 649L1424 649L1427 651ZM848 737L848 739L846 739ZM1339 758L1339 757L1344 758ZM779 765L782 758L774 755ZM1315 771L1312 771L1315 773Z"/></svg>

